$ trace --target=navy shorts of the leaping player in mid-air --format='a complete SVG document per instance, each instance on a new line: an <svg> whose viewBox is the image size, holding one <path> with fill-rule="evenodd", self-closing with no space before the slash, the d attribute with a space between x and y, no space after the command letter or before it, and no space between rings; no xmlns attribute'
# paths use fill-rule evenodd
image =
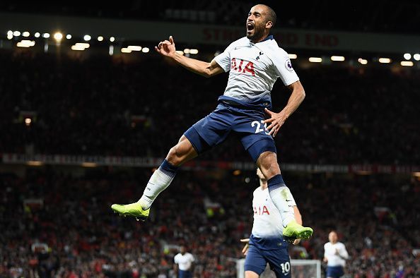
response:
<svg viewBox="0 0 420 278"><path fill-rule="evenodd" d="M211 112L185 133L198 154L222 143L235 134L256 162L262 152L276 152L272 135L264 124L264 111L220 102Z"/></svg>

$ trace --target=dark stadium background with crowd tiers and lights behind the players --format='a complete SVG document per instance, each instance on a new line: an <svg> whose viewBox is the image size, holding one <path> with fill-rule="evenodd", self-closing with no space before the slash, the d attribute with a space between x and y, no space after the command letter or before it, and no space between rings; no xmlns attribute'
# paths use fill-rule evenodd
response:
<svg viewBox="0 0 420 278"><path fill-rule="evenodd" d="M420 3L260 3L276 11L279 33L320 36L315 47L284 44L297 55L306 98L276 146L303 222L315 230L291 248L292 258L322 260L336 229L350 254L347 277L420 277ZM174 37L177 49L197 49L189 55L209 61L228 43L194 42L189 28L240 30L254 4L0 2L0 277L173 277L182 244L197 258L195 277L236 277L258 183L235 138L185 165L148 222L109 207L141 196L169 148L214 109L226 85L227 75L205 79L154 53L153 26L184 34ZM48 30L35 29L45 22ZM100 30L98 22L102 34L86 32ZM355 47L328 45L325 34ZM21 40L35 45L18 47ZM90 45L71 50L77 42ZM129 45L150 51L121 53ZM286 104L280 80L272 98L276 109Z"/></svg>

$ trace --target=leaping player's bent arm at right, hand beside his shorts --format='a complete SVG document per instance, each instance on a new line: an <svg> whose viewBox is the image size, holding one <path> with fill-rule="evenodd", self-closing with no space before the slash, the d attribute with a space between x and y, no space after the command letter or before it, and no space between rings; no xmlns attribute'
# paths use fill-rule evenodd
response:
<svg viewBox="0 0 420 278"><path fill-rule="evenodd" d="M273 137L276 136L286 119L301 105L305 98L305 90L303 90L301 81L298 80L287 87L291 90L291 96L288 98L286 107L279 113L270 111L267 108L265 109L270 119L265 120L264 123L269 123L267 130L269 130L269 134L273 135Z"/></svg>

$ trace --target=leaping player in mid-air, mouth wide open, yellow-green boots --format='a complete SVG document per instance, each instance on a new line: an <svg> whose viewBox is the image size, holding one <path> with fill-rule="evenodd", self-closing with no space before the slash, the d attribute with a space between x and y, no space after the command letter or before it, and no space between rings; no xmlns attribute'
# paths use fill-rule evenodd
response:
<svg viewBox="0 0 420 278"><path fill-rule="evenodd" d="M140 200L129 205L114 204L112 210L146 219L153 200L169 186L183 163L222 143L233 133L268 180L269 195L285 226L284 237L293 241L313 234L309 227L296 223L293 208L284 198L290 191L277 162L273 137L299 107L305 91L288 54L269 35L275 23L276 13L272 8L262 4L253 6L246 20L246 37L232 42L210 63L178 54L172 36L159 42L156 52L189 71L205 77L229 71L228 85L218 98L216 110L189 128L170 149L161 167L153 172ZM163 78L164 75L165 69ZM271 90L277 78L291 90L286 107L278 113L269 110L272 109ZM266 115L269 119L265 119Z"/></svg>

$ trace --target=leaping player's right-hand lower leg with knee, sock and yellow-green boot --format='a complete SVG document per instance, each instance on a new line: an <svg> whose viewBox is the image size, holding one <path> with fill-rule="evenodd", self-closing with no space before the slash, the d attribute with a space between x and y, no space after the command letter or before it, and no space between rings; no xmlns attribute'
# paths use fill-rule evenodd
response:
<svg viewBox="0 0 420 278"><path fill-rule="evenodd" d="M284 238L293 242L296 238L310 238L313 229L301 226L296 222L293 206L296 205L293 195L281 176L277 155L275 152L262 152L257 159L257 166L267 179L269 195L281 214Z"/></svg>

